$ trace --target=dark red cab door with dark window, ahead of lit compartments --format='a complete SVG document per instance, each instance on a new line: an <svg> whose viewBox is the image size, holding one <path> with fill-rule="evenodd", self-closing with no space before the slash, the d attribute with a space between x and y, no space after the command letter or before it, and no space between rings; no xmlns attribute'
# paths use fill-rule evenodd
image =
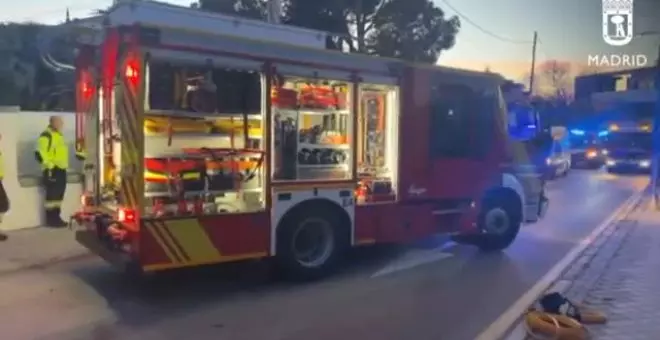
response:
<svg viewBox="0 0 660 340"><path fill-rule="evenodd" d="M468 83L436 82L429 119L430 191L435 215L465 211L499 181L492 161L494 102Z"/></svg>

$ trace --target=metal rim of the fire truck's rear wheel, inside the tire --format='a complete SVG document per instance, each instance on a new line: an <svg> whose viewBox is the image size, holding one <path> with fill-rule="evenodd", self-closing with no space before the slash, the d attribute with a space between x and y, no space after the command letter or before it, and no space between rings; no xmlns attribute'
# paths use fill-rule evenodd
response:
<svg viewBox="0 0 660 340"><path fill-rule="evenodd" d="M330 223L309 218L302 221L294 232L291 250L300 265L313 268L323 265L330 258L334 244Z"/></svg>

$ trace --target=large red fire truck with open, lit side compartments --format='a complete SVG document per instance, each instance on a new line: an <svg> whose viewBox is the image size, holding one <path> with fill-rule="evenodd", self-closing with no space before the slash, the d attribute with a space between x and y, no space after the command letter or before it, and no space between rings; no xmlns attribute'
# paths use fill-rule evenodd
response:
<svg viewBox="0 0 660 340"><path fill-rule="evenodd" d="M499 76L152 1L61 30L91 160L76 239L123 268L272 258L317 278L360 245L503 249L547 208Z"/></svg>

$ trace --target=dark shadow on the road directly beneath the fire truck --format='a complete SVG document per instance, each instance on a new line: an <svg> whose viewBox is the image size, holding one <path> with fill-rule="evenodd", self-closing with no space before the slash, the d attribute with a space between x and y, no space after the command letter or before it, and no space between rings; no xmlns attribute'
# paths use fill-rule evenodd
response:
<svg viewBox="0 0 660 340"><path fill-rule="evenodd" d="M139 282L98 262L75 268L72 274L92 287L107 301L107 308L117 317L115 325L131 329L148 328L165 318L184 317L234 301L251 300L273 294L332 286L349 277L371 274L368 268L391 260L404 247L378 246L354 249L346 266L332 277L318 282L293 283L278 277L268 261L228 263L165 272ZM102 331L96 325L91 333ZM217 327L222 327L218 324ZM114 328L114 327L113 327ZM109 331L108 331L109 332ZM99 335L94 339L114 339Z"/></svg>

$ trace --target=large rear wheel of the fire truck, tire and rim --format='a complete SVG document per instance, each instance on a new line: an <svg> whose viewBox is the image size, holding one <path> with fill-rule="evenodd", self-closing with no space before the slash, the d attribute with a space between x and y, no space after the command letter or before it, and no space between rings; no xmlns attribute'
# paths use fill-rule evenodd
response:
<svg viewBox="0 0 660 340"><path fill-rule="evenodd" d="M285 277L310 281L332 273L349 246L347 219L333 203L305 204L287 213L278 227L275 256Z"/></svg>

